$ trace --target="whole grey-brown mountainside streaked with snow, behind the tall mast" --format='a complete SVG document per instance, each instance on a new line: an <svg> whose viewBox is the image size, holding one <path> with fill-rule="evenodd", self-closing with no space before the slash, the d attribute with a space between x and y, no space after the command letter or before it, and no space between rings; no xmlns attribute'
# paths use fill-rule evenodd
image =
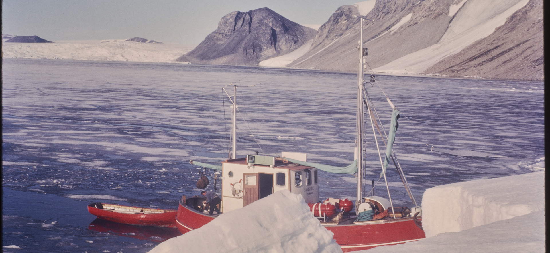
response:
<svg viewBox="0 0 550 253"><path fill-rule="evenodd" d="M376 72L544 78L542 0L369 0L344 5L320 27L311 50L288 66L354 71L359 10L375 20L365 21L364 47L367 67Z"/></svg>

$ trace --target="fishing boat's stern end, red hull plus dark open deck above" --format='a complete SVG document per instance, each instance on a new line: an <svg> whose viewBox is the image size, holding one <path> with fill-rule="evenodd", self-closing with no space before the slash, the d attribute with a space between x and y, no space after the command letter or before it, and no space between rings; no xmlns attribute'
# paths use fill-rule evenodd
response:
<svg viewBox="0 0 550 253"><path fill-rule="evenodd" d="M202 227L204 224L211 222L216 216L208 215L200 210L200 204L206 200L205 197L190 197L185 196L179 201L178 213L175 217L175 223L180 233L185 234L191 230Z"/></svg>

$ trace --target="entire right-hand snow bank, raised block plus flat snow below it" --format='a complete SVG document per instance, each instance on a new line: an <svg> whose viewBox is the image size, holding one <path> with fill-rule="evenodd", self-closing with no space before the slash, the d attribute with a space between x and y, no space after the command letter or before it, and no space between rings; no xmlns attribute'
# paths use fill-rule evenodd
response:
<svg viewBox="0 0 550 253"><path fill-rule="evenodd" d="M426 239L357 253L546 250L543 171L436 186L422 210Z"/></svg>

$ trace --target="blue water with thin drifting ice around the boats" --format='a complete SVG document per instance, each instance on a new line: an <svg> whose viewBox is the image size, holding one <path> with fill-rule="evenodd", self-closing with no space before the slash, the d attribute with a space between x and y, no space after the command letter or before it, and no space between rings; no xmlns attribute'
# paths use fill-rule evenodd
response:
<svg viewBox="0 0 550 253"><path fill-rule="evenodd" d="M223 85L254 85L238 90L239 157L353 160L355 74L38 59L3 59L2 71L2 245L21 248L4 252L146 252L172 237L94 221L86 206L175 209L180 196L198 194L189 160L227 157ZM395 151L417 202L427 188L528 173L544 157L542 82L378 75L377 83L401 111ZM378 85L368 90L388 123ZM379 161L367 150L370 182ZM399 177L389 181L392 199L410 206ZM353 175L320 173L320 182L321 198L355 200Z"/></svg>

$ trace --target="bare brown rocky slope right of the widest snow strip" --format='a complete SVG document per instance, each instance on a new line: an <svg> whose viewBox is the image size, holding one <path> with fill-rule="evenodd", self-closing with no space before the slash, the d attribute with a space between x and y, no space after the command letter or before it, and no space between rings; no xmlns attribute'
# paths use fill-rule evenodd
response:
<svg viewBox="0 0 550 253"><path fill-rule="evenodd" d="M542 1L529 1L491 35L428 68L425 73L543 80Z"/></svg>

